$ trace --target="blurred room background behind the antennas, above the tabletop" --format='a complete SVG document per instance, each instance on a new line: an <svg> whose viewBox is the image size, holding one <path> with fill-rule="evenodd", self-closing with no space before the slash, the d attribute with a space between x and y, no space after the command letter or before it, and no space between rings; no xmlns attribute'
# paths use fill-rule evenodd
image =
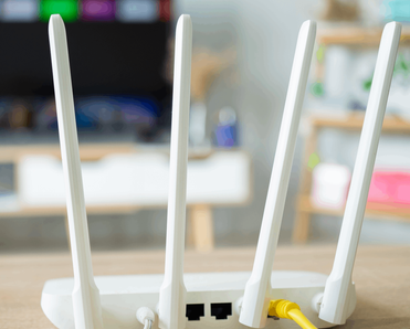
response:
<svg viewBox="0 0 410 329"><path fill-rule="evenodd" d="M193 23L187 245L255 246L303 21L280 243L336 243L383 24L403 23L361 243L410 243L407 0L0 1L0 253L67 250L48 20L66 22L93 250L162 248L174 31Z"/></svg>

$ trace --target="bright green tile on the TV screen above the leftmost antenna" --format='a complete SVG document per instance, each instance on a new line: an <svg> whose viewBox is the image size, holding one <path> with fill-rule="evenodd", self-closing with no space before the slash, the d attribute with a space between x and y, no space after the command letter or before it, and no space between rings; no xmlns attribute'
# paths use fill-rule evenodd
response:
<svg viewBox="0 0 410 329"><path fill-rule="evenodd" d="M40 20L48 22L54 13L60 13L65 22L74 22L78 18L77 0L42 0L40 2Z"/></svg>

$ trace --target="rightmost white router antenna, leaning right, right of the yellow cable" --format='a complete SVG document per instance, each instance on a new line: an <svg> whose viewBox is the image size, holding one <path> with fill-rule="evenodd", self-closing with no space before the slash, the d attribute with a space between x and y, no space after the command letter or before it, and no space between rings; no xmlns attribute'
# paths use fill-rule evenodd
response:
<svg viewBox="0 0 410 329"><path fill-rule="evenodd" d="M351 273L365 215L377 146L389 96L391 77L399 46L401 24L385 26L376 70L370 89L357 160L347 198L345 215L337 245L335 263L326 282L319 318L335 325L346 322L349 310L348 294L351 291Z"/></svg>

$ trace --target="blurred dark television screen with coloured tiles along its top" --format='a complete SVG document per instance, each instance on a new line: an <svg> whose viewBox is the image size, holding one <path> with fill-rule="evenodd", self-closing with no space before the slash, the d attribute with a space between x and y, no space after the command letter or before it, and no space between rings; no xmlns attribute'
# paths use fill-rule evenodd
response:
<svg viewBox="0 0 410 329"><path fill-rule="evenodd" d="M56 130L48 33L55 10L65 20L78 131L139 129L149 138L168 124L169 1L13 0L1 6L0 130Z"/></svg>

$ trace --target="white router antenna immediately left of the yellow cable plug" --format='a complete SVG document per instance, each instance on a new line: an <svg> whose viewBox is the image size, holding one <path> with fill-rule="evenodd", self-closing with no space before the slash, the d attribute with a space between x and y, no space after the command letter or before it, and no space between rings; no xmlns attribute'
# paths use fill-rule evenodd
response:
<svg viewBox="0 0 410 329"><path fill-rule="evenodd" d="M248 327L262 328L267 318L273 261L281 230L315 36L316 23L314 21L304 22L297 38L255 261L252 275L246 283L241 307L240 322Z"/></svg>

